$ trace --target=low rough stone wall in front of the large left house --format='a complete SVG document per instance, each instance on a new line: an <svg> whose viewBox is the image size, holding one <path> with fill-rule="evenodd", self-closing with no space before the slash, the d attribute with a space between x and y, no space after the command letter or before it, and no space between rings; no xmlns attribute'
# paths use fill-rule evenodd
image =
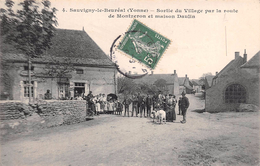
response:
<svg viewBox="0 0 260 166"><path fill-rule="evenodd" d="M0 103L2 135L86 121L86 101L50 100L34 104Z"/></svg>

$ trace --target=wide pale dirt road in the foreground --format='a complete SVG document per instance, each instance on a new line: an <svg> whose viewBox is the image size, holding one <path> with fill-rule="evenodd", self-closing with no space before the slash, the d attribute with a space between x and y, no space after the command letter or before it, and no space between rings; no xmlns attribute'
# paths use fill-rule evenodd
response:
<svg viewBox="0 0 260 166"><path fill-rule="evenodd" d="M100 115L92 121L13 135L1 141L2 165L259 165L259 113L197 113L187 123ZM176 109L177 110L177 109Z"/></svg>

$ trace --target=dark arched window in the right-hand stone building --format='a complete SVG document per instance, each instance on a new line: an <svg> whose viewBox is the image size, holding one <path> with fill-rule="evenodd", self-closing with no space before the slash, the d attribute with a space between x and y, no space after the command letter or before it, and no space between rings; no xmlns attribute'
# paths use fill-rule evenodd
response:
<svg viewBox="0 0 260 166"><path fill-rule="evenodd" d="M232 84L225 90L225 103L245 103L246 90L242 85Z"/></svg>

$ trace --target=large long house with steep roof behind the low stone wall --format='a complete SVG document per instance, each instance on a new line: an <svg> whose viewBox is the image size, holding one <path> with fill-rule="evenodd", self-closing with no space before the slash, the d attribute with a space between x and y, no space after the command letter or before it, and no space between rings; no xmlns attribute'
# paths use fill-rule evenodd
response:
<svg viewBox="0 0 260 166"><path fill-rule="evenodd" d="M1 92L7 93L9 99L26 102L29 98L27 58L13 46L1 44ZM114 63L84 30L57 29L51 48L32 59L31 71L33 99L43 98L47 90L55 99L76 97L89 91L94 95L116 93Z"/></svg>

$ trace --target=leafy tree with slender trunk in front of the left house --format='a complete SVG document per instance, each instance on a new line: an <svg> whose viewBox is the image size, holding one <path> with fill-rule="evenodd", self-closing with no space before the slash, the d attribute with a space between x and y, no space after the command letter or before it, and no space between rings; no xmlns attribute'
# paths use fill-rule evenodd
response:
<svg viewBox="0 0 260 166"><path fill-rule="evenodd" d="M13 11L14 2L6 0L6 9L0 9L1 35L5 43L13 45L28 58L28 86L31 89L32 58L41 56L51 46L54 36L56 8L51 8L49 0L41 4L35 0L24 0L18 5L21 9ZM41 8L41 9L40 9ZM29 102L31 101L29 90Z"/></svg>

